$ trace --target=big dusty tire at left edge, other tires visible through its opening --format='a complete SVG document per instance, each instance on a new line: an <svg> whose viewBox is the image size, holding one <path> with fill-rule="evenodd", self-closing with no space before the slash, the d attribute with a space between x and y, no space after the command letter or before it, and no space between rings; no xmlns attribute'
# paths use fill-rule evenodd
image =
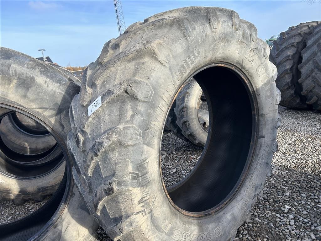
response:
<svg viewBox="0 0 321 241"><path fill-rule="evenodd" d="M80 87L61 75L56 68L35 58L7 48L1 48L0 52L1 117L19 112L41 124L55 138L65 160L52 163L57 167L56 171L63 176L53 197L30 215L0 225L0 240L94 240L97 223L74 187L72 165L66 147L67 134L71 130L68 110L72 98L79 92ZM29 186L31 192L35 187L43 185L36 182L37 177L31 179L24 177L21 182L13 178L9 166L14 165L18 168L19 165L4 158L9 155L8 153L2 152L2 154L4 155L0 158L1 195L10 194L13 186L15 190L31 179ZM60 167L65 171L60 171ZM24 169L24 172L32 172L34 168ZM14 184L6 183L8 178L11 178ZM52 177L47 175L47 178ZM39 179L40 181L42 179ZM34 186L31 186L32 184ZM38 190L39 195L41 191Z"/></svg>

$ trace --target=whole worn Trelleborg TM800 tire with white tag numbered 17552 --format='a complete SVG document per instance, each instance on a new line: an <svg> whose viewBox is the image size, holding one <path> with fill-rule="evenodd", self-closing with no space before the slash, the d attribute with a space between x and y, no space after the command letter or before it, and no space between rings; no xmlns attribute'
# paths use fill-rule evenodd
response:
<svg viewBox="0 0 321 241"><path fill-rule="evenodd" d="M233 240L270 174L277 71L255 26L224 8L156 14L108 41L70 116L74 179L114 240ZM126 68L124 68L126 66ZM201 160L166 190L161 136L191 77L209 109Z"/></svg>

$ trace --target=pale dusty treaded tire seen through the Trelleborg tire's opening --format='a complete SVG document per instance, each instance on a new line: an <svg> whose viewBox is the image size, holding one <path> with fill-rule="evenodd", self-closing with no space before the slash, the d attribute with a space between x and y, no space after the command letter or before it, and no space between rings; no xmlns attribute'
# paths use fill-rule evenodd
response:
<svg viewBox="0 0 321 241"><path fill-rule="evenodd" d="M174 112L182 134L195 145L204 147L209 116L207 111L200 109L202 94L201 87L192 79L179 92Z"/></svg>

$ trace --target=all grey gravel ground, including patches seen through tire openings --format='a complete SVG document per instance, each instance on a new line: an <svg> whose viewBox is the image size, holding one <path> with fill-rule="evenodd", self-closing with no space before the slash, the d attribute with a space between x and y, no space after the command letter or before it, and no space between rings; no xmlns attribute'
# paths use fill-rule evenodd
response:
<svg viewBox="0 0 321 241"><path fill-rule="evenodd" d="M257 201L250 220L238 230L235 241L321 240L321 113L279 107L282 125L279 150L272 160L263 198ZM165 132L162 140L162 170L166 186L183 179L202 153L201 147ZM28 213L28 201L15 206L0 202L0 223ZM38 203L39 206L39 203ZM32 208L34 210L34 208ZM99 241L111 239L99 228Z"/></svg>

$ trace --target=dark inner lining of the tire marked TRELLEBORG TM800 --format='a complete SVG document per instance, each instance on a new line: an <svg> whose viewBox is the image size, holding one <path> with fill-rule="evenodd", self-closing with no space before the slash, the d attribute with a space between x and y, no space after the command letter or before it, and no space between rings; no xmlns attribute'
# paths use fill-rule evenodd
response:
<svg viewBox="0 0 321 241"><path fill-rule="evenodd" d="M175 208L186 215L200 217L223 207L243 183L256 143L257 107L252 86L234 66L213 64L193 78L201 86L205 95L202 99L206 99L208 107L209 123L200 121L200 125L208 129L206 144L183 180L169 187L163 179L163 186ZM161 148L164 148L163 142ZM168 160L163 152L162 176L165 173L166 177L164 163Z"/></svg>

